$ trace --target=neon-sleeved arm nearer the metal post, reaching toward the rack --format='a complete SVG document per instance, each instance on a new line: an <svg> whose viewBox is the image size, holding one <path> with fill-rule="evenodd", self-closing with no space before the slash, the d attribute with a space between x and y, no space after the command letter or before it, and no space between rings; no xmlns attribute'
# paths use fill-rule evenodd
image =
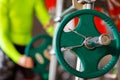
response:
<svg viewBox="0 0 120 80"><path fill-rule="evenodd" d="M50 14L48 13L44 0L36 0L35 2L35 13L41 24L43 25L43 28L45 31L53 36L54 33L54 27L53 24L54 22L52 21L52 18Z"/></svg>

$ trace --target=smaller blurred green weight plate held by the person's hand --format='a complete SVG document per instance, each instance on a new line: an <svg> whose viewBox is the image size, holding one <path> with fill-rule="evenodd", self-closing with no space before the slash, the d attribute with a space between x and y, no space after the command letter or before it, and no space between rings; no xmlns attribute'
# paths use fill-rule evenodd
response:
<svg viewBox="0 0 120 80"><path fill-rule="evenodd" d="M35 45L35 43L38 41ZM39 73L44 80L48 80L49 59L47 55L52 44L52 38L46 34L39 34L35 36L25 48L26 56L32 57L35 66L33 71Z"/></svg>

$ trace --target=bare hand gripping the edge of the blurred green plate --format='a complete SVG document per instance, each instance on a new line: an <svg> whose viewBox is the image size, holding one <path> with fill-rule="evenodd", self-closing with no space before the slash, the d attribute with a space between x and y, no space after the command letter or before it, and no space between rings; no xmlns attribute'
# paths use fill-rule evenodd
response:
<svg viewBox="0 0 120 80"><path fill-rule="evenodd" d="M33 62L32 58L22 55L22 57L18 61L18 65L20 65L24 68L33 68L34 62Z"/></svg>

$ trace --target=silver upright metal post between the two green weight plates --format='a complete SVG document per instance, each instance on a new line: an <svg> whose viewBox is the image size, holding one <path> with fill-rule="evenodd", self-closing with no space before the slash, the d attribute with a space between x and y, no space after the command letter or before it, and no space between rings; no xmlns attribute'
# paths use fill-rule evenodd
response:
<svg viewBox="0 0 120 80"><path fill-rule="evenodd" d="M57 0L56 4L56 16L60 16L62 13L62 6L63 6L63 0ZM57 22L55 25L55 33L56 29L58 27L59 23ZM55 34L54 34L55 35ZM54 38L53 38L54 43ZM57 59L54 51L54 44L52 44L53 49L51 51L51 60L50 60L50 66L49 66L49 80L56 80L56 72L57 72Z"/></svg>

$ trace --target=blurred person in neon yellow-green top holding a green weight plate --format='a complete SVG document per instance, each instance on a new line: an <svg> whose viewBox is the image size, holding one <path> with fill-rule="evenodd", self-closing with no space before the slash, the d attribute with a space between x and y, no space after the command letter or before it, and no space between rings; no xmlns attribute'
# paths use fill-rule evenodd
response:
<svg viewBox="0 0 120 80"><path fill-rule="evenodd" d="M33 80L34 62L24 55L24 48L32 39L34 12L46 32L53 35L44 0L0 0L0 80L15 80L18 70L23 80Z"/></svg>

